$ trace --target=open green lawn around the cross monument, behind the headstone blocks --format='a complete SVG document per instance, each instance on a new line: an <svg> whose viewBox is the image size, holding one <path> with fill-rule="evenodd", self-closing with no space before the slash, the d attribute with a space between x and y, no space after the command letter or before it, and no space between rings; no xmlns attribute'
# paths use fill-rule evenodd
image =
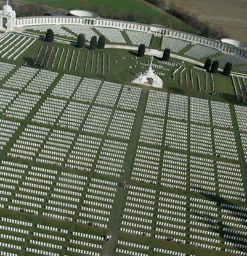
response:
<svg viewBox="0 0 247 256"><path fill-rule="evenodd" d="M154 37L153 44L158 45L158 39ZM52 53L52 58L55 56L55 51L57 48L59 48L57 57L55 58L54 61L54 69L51 68L53 59L49 61L49 65L46 67L46 69L49 70L57 70L57 71L62 71L62 72L70 72L71 74L74 75L80 75L83 77L92 77L95 79L100 79L100 80L110 80L112 82L116 83L124 83L126 85L131 84L131 79L134 74L137 74L138 72L142 72L147 70L147 66L143 66L140 63L147 64L148 61L150 61L150 56L144 56L143 58L139 58L136 56L136 53L131 50L124 50L124 49L104 49L102 50L95 50L94 54L94 62L93 62L93 67L91 69L91 62L92 62L92 51L89 51L86 48L83 49L78 49L75 46L69 46L69 45L63 45L59 43L52 43L52 45L49 45L47 43L43 43L42 41L36 41L31 47L30 47L30 52L23 53L20 58L17 59L18 64L22 64L25 61L28 62L28 66L33 66L33 63L36 59L36 56L38 54L38 51L41 47L41 45L44 45L43 47L43 52L45 51L46 47L48 46L49 49L54 46L54 51ZM59 59L63 50L63 56L60 62L59 69L57 69L58 64L59 64ZM68 49L70 49L68 58L67 58L67 64L65 66L65 69L63 69L63 64L65 61L65 56L67 54ZM71 64L71 70L68 70L70 66L70 61L71 61L71 55L73 53L73 50L75 50L75 54L72 59L72 64ZM77 69L75 70L75 63L76 63L76 56L79 51L79 61L78 61L78 66ZM49 54L50 51L47 51ZM30 54L31 53L31 54ZM88 53L88 59L87 59L87 65L86 65L86 56ZM97 58L98 58L98 53L99 53L99 65L97 65ZM108 55L110 54L110 75L108 76L107 74L107 58ZM105 56L105 70L102 72L102 61L103 61L103 55ZM42 54L41 54L42 56ZM40 56L40 58L41 58ZM123 59L125 57L125 59ZM48 58L48 56L47 56ZM159 64L158 63L158 58L155 59L153 62L154 64ZM215 84L215 92L217 92L219 95L218 96L212 96L212 87L211 87L211 78L210 74L208 74L208 90L206 91L205 88L205 74L201 70L193 69L193 65L190 63L186 63L186 69L183 73L184 75L184 82L185 82L185 74L188 75L188 82L190 82L190 72L189 70L192 69L193 72L193 82L194 82L194 88L191 86L191 82L189 87L187 88L185 83L183 85L179 85L179 74L180 71L178 71L175 75L175 79L172 79L172 72L179 67L179 63L181 65L181 62L179 62L177 59L172 59L170 62L175 62L178 64L176 67L170 67L170 66L165 66L165 68L169 69L168 71L163 71L160 69L156 69L156 72L162 72L165 75L160 76L161 79L163 79L164 82L164 90L166 92L172 92L172 93L179 93L179 94L186 94L188 96L195 96L195 97L202 97L210 100L217 100L217 101L224 101L224 102L236 102L236 97L235 93L233 91L233 85L230 80L230 77L224 77L221 74L214 74L214 84ZM161 65L161 64L159 64ZM98 66L98 68L97 68ZM37 66L38 67L38 66ZM86 72L85 72L86 68ZM96 72L96 69L98 72ZM91 72L92 70L92 72ZM180 69L182 70L182 69ZM104 74L103 74L104 73ZM200 82L201 82L201 92L198 90L198 83L196 80L197 76L200 76Z"/></svg>

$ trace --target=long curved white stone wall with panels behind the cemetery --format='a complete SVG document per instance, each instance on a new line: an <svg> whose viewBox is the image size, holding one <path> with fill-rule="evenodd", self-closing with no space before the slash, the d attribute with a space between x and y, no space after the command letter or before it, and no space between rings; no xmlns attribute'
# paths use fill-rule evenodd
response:
<svg viewBox="0 0 247 256"><path fill-rule="evenodd" d="M241 58L247 59L247 51L230 45L227 42L221 42L197 36L190 33L172 30L160 25L147 25L136 22L126 22L123 20L110 20L100 17L73 17L73 16L36 16L36 17L20 17L15 20L15 27L32 27L37 25L90 25L98 27L119 28L127 30L136 30L146 33L155 33L157 35L169 36L180 40L198 43L211 48L219 49L225 53L232 53Z"/></svg>

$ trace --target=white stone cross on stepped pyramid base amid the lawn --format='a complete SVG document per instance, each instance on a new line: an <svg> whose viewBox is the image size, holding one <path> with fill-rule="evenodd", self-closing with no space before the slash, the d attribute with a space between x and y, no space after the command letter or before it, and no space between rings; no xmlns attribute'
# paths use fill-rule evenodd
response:
<svg viewBox="0 0 247 256"><path fill-rule="evenodd" d="M163 88L163 80L155 74L155 71L152 69L152 64L153 56L148 69L145 72L140 72L134 75L131 83L136 83L137 85L147 85L155 88Z"/></svg>

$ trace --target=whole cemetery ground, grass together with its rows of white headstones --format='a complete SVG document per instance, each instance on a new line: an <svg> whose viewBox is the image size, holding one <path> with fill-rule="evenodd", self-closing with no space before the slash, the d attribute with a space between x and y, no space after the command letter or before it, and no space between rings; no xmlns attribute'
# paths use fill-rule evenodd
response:
<svg viewBox="0 0 247 256"><path fill-rule="evenodd" d="M36 40L15 61L14 43L27 39L2 40L1 63L15 67L0 70L1 254L245 252L247 116L235 105L246 103L230 77L213 74L213 89L209 73L206 85L204 70L179 59L192 44L168 63L155 57L162 89L132 84L150 56L124 49L133 45L121 33L122 49Z"/></svg>

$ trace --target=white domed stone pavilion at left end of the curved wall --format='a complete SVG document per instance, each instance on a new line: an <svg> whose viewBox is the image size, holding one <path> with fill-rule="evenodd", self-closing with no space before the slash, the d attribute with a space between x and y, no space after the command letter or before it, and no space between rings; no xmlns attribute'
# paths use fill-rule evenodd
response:
<svg viewBox="0 0 247 256"><path fill-rule="evenodd" d="M16 14L12 7L9 5L9 0L2 6L0 11L0 29L6 29L7 31L12 31L15 27Z"/></svg>

